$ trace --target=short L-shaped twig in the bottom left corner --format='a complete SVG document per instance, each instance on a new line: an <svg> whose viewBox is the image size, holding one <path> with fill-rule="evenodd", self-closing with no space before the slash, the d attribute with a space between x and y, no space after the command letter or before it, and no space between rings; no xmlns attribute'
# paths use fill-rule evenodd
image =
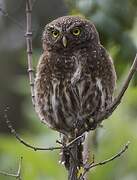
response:
<svg viewBox="0 0 137 180"><path fill-rule="evenodd" d="M15 177L16 179L21 180L22 159L23 159L23 158L21 157L21 158L20 158L20 162L19 162L19 167L18 167L17 173L12 174L12 173L7 173L7 172L4 172L4 171L0 171L0 174L3 175L3 176Z"/></svg>

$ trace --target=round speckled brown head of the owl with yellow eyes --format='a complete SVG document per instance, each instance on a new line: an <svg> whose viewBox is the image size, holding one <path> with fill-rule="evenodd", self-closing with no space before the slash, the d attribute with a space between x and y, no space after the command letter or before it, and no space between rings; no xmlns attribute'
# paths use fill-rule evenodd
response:
<svg viewBox="0 0 137 180"><path fill-rule="evenodd" d="M63 16L46 25L43 32L43 49L68 51L99 43L95 26L79 16Z"/></svg>

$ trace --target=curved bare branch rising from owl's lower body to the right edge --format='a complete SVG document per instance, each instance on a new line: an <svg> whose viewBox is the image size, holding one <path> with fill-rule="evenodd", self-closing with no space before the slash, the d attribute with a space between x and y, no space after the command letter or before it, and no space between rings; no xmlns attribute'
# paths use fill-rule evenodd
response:
<svg viewBox="0 0 137 180"><path fill-rule="evenodd" d="M133 75L135 74L136 71L137 71L137 54L135 56L132 66L129 70L129 73L125 80L125 83L123 84L123 86L121 88L121 91L119 92L117 97L114 99L112 104L108 107L108 109L106 111L102 112L101 114L99 114L99 116L96 118L97 122L101 122L102 120L107 119L114 112L114 110L117 108L117 106L121 103L122 97L123 97L124 93L126 92L128 86L129 86L129 83L130 83L131 79L133 78Z"/></svg>

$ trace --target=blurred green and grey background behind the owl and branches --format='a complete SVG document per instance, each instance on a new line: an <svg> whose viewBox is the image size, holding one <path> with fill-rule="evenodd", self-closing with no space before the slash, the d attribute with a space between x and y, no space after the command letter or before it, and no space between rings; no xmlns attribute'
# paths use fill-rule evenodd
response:
<svg viewBox="0 0 137 180"><path fill-rule="evenodd" d="M125 79L137 52L136 0L34 0L33 60L37 64L44 26L56 17L83 15L94 22L101 43L114 59L118 81L117 91ZM0 0L0 170L14 173L23 156L23 180L65 180L67 173L58 161L59 151L34 152L10 134L9 120L27 142L37 146L56 145L58 133L40 123L30 98L25 45L25 1ZM103 167L94 168L89 180L137 180L137 74L126 95L111 118L103 122L96 137L90 141L95 160L111 157L131 141L128 151ZM13 178L0 175L0 180Z"/></svg>

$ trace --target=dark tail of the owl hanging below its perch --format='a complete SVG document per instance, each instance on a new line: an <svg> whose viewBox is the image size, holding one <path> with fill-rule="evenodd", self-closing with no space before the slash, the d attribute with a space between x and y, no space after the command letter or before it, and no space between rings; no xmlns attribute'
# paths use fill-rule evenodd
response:
<svg viewBox="0 0 137 180"><path fill-rule="evenodd" d="M66 139L63 137L63 143L68 144L72 140ZM79 139L69 148L64 148L61 150L61 163L64 164L67 170L70 169L71 164L75 164L78 168L83 166L83 138Z"/></svg>

